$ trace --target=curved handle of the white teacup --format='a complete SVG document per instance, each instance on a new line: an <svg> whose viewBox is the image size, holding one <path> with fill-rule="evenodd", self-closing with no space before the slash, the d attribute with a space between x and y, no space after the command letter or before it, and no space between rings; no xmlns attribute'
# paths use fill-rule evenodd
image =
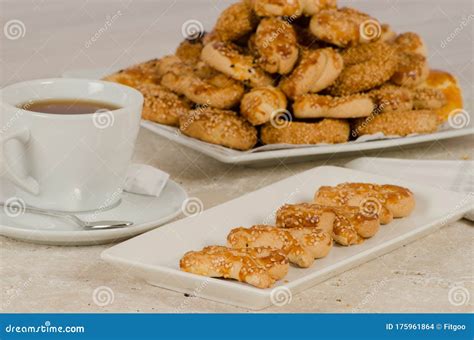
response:
<svg viewBox="0 0 474 340"><path fill-rule="evenodd" d="M33 195L38 195L40 192L38 181L31 176L18 176L18 174L15 173L12 166L10 165L10 160L8 159L7 153L5 151L8 148L8 142L11 140L17 140L22 143L24 147L26 147L26 144L30 141L30 130L28 128L23 128L19 131L13 132L9 136L1 138L0 147L4 151L4 166L8 179L10 179L15 185L19 186L23 190L26 190Z"/></svg>

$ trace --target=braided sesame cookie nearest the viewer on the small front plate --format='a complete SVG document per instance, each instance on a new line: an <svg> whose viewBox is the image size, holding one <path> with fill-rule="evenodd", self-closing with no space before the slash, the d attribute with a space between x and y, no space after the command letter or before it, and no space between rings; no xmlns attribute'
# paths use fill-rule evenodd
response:
<svg viewBox="0 0 474 340"><path fill-rule="evenodd" d="M189 251L179 261L181 270L202 276L222 277L269 288L275 279L268 270L250 255L228 251Z"/></svg>

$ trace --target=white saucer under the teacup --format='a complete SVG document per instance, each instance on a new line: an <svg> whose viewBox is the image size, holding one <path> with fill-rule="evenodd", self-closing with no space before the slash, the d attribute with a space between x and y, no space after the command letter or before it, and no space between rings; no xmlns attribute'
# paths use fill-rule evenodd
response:
<svg viewBox="0 0 474 340"><path fill-rule="evenodd" d="M116 207L93 214L77 214L94 220L127 220L133 226L123 229L81 230L67 219L23 212L10 217L0 209L0 235L22 241L51 245L96 245L117 242L168 222L181 212L187 194L169 180L160 197L124 193ZM93 215L93 216L92 216Z"/></svg>

